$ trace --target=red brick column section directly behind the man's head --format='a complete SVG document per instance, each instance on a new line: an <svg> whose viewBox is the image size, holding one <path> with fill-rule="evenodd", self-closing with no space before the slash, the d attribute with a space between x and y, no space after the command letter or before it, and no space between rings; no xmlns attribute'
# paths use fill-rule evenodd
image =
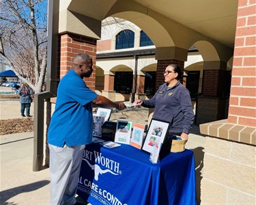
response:
<svg viewBox="0 0 256 205"><path fill-rule="evenodd" d="M70 33L61 35L60 39L60 78L65 76L71 68L73 58L77 53L89 54L93 61L94 72L89 78L85 78L84 80L89 89L94 91L96 78L96 40Z"/></svg>

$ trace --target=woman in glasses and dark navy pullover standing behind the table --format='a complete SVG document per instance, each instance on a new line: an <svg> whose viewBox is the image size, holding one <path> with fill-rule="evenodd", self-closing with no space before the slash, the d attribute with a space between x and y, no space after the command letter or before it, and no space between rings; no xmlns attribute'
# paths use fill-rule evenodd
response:
<svg viewBox="0 0 256 205"><path fill-rule="evenodd" d="M179 66L168 65L163 72L162 84L152 99L137 99L134 104L145 108L155 108L152 118L170 122L168 136L180 136L188 140L188 133L194 122L190 93L181 83L182 70Z"/></svg>

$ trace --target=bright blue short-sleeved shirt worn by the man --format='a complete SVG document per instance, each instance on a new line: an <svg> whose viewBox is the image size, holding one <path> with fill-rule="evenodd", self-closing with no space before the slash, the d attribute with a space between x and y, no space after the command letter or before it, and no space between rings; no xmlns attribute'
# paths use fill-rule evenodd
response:
<svg viewBox="0 0 256 205"><path fill-rule="evenodd" d="M62 147L89 144L92 140L91 101L98 95L69 70L59 82L55 111L48 129L48 143Z"/></svg>

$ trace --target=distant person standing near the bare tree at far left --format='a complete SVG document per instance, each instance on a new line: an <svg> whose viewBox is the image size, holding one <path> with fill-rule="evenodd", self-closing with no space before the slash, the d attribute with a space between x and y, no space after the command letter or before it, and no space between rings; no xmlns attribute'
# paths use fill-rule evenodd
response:
<svg viewBox="0 0 256 205"><path fill-rule="evenodd" d="M18 89L17 92L18 95L20 95L20 113L21 116L28 116L30 117L30 107L31 107L31 102L32 102L32 97L31 95L33 94L33 90L27 83L23 83L20 86L20 89ZM24 114L26 109L26 115Z"/></svg>

